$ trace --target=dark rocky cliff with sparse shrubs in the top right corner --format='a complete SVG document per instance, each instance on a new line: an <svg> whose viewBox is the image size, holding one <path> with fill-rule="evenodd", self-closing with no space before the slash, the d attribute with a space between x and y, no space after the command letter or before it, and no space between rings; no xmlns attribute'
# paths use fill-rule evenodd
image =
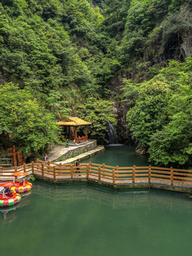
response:
<svg viewBox="0 0 192 256"><path fill-rule="evenodd" d="M163 67L167 60L183 61L191 54L192 2L183 6L178 14L164 18L146 43L143 60Z"/></svg>

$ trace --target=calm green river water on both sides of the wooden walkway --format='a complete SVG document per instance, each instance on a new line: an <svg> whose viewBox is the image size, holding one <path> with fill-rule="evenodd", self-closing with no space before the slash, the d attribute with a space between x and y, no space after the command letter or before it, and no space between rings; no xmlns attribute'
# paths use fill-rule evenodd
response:
<svg viewBox="0 0 192 256"><path fill-rule="evenodd" d="M147 164L140 156L135 163L134 150L125 146L109 147L90 160L113 161L111 165L119 166ZM33 191L23 196L18 208L8 213L1 209L0 252L20 256L189 256L191 218L192 198L183 193L117 192L86 184L55 186L35 181Z"/></svg>

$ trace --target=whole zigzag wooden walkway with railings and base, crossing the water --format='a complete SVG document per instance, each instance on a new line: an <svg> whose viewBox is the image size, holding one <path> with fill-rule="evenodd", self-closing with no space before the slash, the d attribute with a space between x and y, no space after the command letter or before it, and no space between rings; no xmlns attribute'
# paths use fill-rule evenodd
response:
<svg viewBox="0 0 192 256"><path fill-rule="evenodd" d="M54 164L38 160L14 169L1 168L0 181L13 179L14 171L24 171L52 183L96 183L111 188L164 188L192 193L192 171L155 166L119 167L106 164ZM23 177L21 177L23 178Z"/></svg>

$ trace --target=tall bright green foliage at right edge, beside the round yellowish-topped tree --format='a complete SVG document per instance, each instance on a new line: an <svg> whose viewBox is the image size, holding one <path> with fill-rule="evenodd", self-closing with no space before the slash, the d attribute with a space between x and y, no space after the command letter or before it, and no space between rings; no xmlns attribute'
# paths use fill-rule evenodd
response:
<svg viewBox="0 0 192 256"><path fill-rule="evenodd" d="M149 160L155 164L191 166L192 164L192 87L191 57L184 63L171 61L159 78L171 87L167 100L167 124L150 137Z"/></svg>

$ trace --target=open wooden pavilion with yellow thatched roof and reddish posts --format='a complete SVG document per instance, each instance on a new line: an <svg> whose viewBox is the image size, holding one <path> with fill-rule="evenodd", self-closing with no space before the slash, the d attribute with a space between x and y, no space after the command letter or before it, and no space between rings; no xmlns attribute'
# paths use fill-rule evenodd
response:
<svg viewBox="0 0 192 256"><path fill-rule="evenodd" d="M62 121L57 122L58 125L62 125L64 127L69 127L69 139L71 137L71 127L74 127L74 142L84 142L88 139L87 136L87 125L91 124L90 122L86 122L79 117L69 117L64 118ZM85 126L85 136L84 137L77 137L77 127Z"/></svg>

